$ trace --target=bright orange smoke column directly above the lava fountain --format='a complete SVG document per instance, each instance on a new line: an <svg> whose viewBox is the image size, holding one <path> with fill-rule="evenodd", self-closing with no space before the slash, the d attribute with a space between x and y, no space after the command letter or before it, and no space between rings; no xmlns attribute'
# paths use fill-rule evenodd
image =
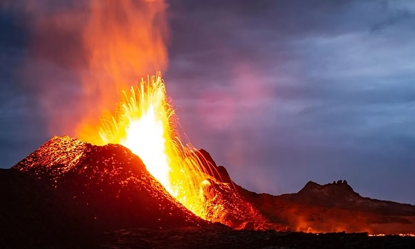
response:
<svg viewBox="0 0 415 249"><path fill-rule="evenodd" d="M99 140L92 138L99 120L111 118L122 91L142 75L167 67L166 8L163 0L90 0L82 32L89 70L80 73L86 100L75 129L78 138Z"/></svg>

